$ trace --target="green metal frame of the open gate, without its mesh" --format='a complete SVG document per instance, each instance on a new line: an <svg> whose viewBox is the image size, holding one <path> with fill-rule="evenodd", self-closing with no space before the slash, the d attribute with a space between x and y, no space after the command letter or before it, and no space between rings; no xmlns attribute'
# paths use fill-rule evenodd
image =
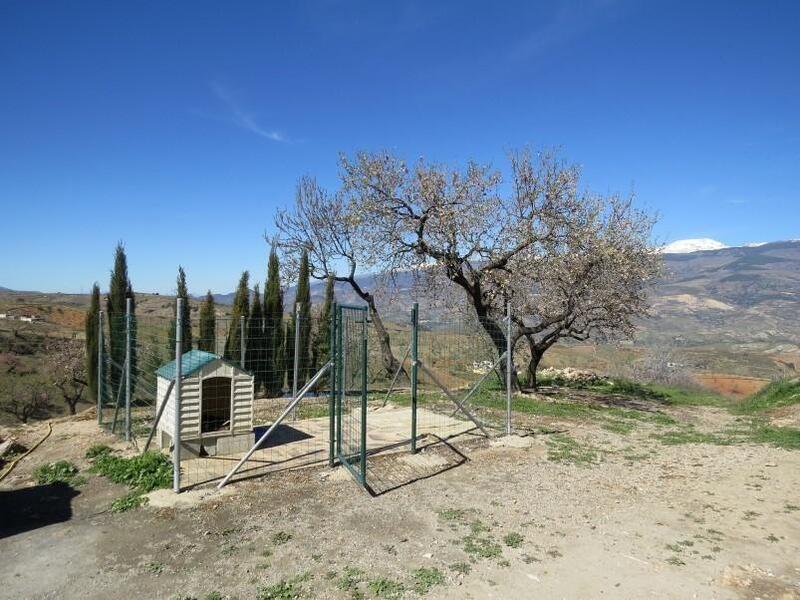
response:
<svg viewBox="0 0 800 600"><path fill-rule="evenodd" d="M347 327L347 313L358 315L361 322L361 402L357 407L360 415L359 439L357 452L342 451L342 416L347 397L347 351L348 340L345 329ZM367 488L367 307L340 304L336 307L336 344L335 344L335 402L336 402L336 458L358 482L361 487ZM357 463L354 464L354 460Z"/></svg>

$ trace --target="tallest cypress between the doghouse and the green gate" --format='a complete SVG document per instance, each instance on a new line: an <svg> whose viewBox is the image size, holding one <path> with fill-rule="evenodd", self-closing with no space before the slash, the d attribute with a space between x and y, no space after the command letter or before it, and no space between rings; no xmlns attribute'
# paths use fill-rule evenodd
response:
<svg viewBox="0 0 800 600"><path fill-rule="evenodd" d="M273 244L267 265L267 284L264 287L264 338L266 347L265 387L269 398L280 396L283 391L283 291L281 290L280 263Z"/></svg>

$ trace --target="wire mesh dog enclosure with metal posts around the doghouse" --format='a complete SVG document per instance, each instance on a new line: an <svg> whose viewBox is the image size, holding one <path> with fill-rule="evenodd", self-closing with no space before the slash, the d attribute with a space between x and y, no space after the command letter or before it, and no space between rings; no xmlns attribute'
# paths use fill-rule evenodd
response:
<svg viewBox="0 0 800 600"><path fill-rule="evenodd" d="M105 318L98 420L140 451L172 456L180 424L181 489L338 460L382 493L463 462L454 441L503 431L502 328L420 314L415 335L413 311L385 331L363 308L339 314L333 338L319 316L217 316L202 331L191 319L178 389L176 319ZM393 460L421 450L441 456Z"/></svg>

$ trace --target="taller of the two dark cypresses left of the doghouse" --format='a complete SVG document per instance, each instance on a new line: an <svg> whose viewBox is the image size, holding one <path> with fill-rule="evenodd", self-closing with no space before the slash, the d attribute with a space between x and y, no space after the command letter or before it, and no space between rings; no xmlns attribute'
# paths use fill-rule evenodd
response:
<svg viewBox="0 0 800 600"><path fill-rule="evenodd" d="M109 382L111 392L117 394L124 370L125 363L125 304L131 299L131 314L136 309L136 297L133 286L128 277L128 258L125 255L125 246L122 242L117 244L114 251L114 269L111 271L111 281L108 286L108 299L106 313L108 315L108 353L112 361L109 369ZM131 395L136 384L136 321L134 319L131 330Z"/></svg>

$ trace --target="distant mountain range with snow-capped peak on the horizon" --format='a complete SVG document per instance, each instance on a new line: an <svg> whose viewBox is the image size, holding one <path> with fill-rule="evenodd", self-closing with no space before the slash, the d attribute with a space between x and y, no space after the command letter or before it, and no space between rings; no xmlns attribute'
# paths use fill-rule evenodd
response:
<svg viewBox="0 0 800 600"><path fill-rule="evenodd" d="M638 340L647 345L733 345L739 350L800 353L800 240L716 247L719 244L682 240L664 249L666 275L653 287L652 316L642 321ZM373 275L359 282L378 292L379 305L389 320L405 320L414 301L428 319L436 319L442 311L417 294L411 273L398 274L393 282L385 283L385 289L380 289ZM322 301L323 293L324 283L312 282L314 303ZM229 293L214 298L230 305L233 297ZM337 284L336 298L341 303L360 303L345 284ZM60 301L67 299L62 295ZM76 304L85 301L85 296L74 297ZM284 298L287 310L293 301L294 289L289 288ZM152 314L171 307L169 296L153 296L147 302L141 308Z"/></svg>

